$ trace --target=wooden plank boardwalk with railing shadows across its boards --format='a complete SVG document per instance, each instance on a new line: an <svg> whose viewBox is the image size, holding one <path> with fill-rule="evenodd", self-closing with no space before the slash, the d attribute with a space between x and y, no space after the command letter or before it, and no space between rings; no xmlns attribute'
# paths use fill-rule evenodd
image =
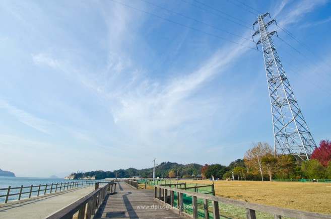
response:
<svg viewBox="0 0 331 219"><path fill-rule="evenodd" d="M118 182L117 194L108 195L94 218L186 218L154 200L154 190Z"/></svg>

